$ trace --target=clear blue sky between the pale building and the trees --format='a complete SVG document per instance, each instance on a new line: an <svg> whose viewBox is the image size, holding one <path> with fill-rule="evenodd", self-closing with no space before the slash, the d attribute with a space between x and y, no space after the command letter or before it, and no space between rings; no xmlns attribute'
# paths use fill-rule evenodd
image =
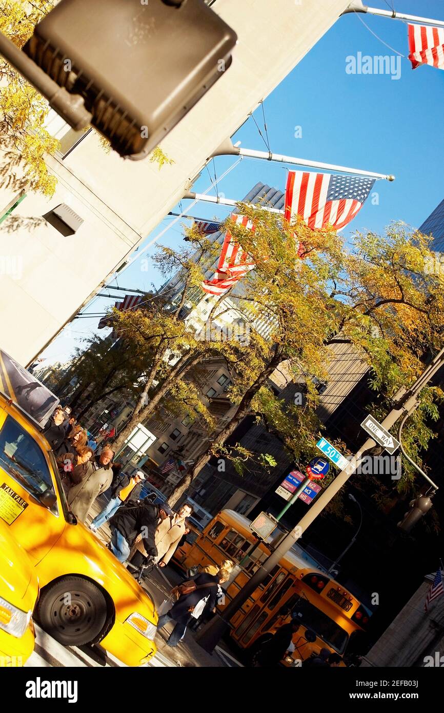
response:
<svg viewBox="0 0 444 713"><path fill-rule="evenodd" d="M388 9L391 0L372 0L370 5ZM440 0L396 0L396 10L444 19L444 3ZM373 192L378 193L378 205L367 200L355 220L342 231L345 240L355 230L381 232L391 220L403 220L418 227L444 198L444 71L428 66L413 71L407 58L395 59L396 53L372 32L393 50L408 55L405 23L368 14L349 14L336 22L264 101L269 145L274 153L396 175L393 183L376 182ZM359 52L372 58L393 56L393 73L397 76L400 68L401 76L396 79L391 74L346 73L346 66L351 65L347 58L357 58ZM254 118L264 134L260 107ZM301 138L295 138L295 133L301 133ZM232 140L234 143L240 140L244 148L267 150L252 118L234 133ZM234 157L217 158L214 165L208 165L208 170L202 170L192 190L204 193L211 185L210 173L213 178L214 171L220 176L235 161ZM284 190L287 168L245 158L222 180L220 193L241 200L259 180ZM210 193L215 195L215 190ZM185 210L190 201L183 200L181 205ZM172 210L180 212L180 206ZM205 202L190 210L191 215L205 219L223 220L228 213L228 207ZM180 245L184 221L171 225L172 220L166 217L147 236L138 254L161 232L161 244ZM154 250L155 245L141 257L149 258ZM159 287L162 277L150 261L148 272L141 272L136 260L119 273L117 282L110 284L150 289L152 284ZM82 312L104 312L111 304L113 299L95 297ZM49 361L68 359L79 340L94 332L97 324L98 319L94 318L76 319L43 356ZM103 330L101 334L107 332Z"/></svg>

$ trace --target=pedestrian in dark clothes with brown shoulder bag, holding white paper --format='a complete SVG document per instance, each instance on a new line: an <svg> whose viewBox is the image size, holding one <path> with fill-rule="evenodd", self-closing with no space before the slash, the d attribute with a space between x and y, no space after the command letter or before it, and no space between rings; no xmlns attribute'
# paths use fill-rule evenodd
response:
<svg viewBox="0 0 444 713"><path fill-rule="evenodd" d="M215 610L217 603L217 589L222 582L226 582L229 578L229 573L226 570L220 570L217 575L208 575L207 573L202 573L200 575L195 575L191 580L187 580L182 585L172 590L179 592L179 598L175 604L172 605L171 609L162 614L158 620L158 631L162 629L165 624L170 621L176 622L174 629L172 630L170 637L167 640L167 645L174 647L180 642L184 637L187 626L192 622L193 613L196 610L198 616L202 613L205 603L202 606L200 602L210 602L210 607ZM195 584L194 590L189 593L180 594L181 586L185 589L190 589L188 585L191 583ZM200 605L200 610L197 610L197 606ZM198 618L198 617L197 617Z"/></svg>

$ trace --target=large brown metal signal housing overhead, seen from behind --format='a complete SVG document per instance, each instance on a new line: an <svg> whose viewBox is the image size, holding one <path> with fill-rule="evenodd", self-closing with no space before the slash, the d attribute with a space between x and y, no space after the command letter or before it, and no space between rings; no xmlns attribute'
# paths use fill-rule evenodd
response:
<svg viewBox="0 0 444 713"><path fill-rule="evenodd" d="M236 41L203 0L61 0L24 52L120 155L144 158L223 76Z"/></svg>

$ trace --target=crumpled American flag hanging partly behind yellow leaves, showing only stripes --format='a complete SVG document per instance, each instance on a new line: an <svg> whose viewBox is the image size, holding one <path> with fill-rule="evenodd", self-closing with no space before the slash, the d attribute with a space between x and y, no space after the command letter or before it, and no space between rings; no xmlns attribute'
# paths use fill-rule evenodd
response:
<svg viewBox="0 0 444 713"><path fill-rule="evenodd" d="M246 215L232 213L232 221L243 225L247 230L254 230L254 225ZM225 232L222 251L220 253L217 269L212 279L205 279L202 282L202 289L210 294L224 294L242 277L252 270L254 263L248 262L249 256L233 237L229 230Z"/></svg>

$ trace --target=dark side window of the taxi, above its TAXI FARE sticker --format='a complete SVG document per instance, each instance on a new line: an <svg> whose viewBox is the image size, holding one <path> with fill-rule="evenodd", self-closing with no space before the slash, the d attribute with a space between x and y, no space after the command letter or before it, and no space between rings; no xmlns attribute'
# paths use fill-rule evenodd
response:
<svg viewBox="0 0 444 713"><path fill-rule="evenodd" d="M37 498L54 491L41 448L11 416L0 431L0 467Z"/></svg>

